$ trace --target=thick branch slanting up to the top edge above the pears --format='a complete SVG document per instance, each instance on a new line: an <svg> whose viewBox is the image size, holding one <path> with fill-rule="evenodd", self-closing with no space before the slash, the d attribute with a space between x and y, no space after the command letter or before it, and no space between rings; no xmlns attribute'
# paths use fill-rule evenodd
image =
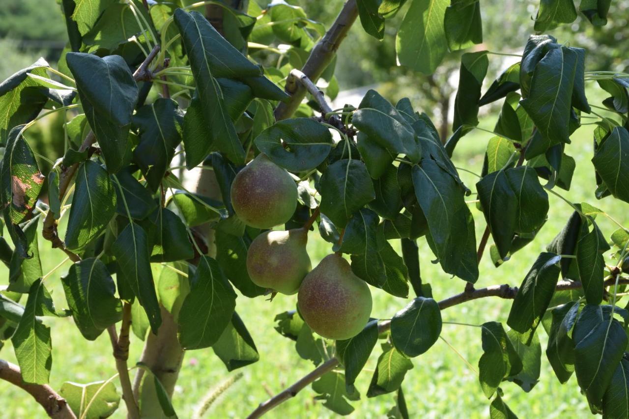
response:
<svg viewBox="0 0 629 419"><path fill-rule="evenodd" d="M306 60L306 64L301 69L308 79L316 82L321 77L321 74L323 74L323 71L336 55L338 47L341 45L342 40L345 39L345 36L347 36L347 32L357 17L358 7L356 0L348 0L338 14L337 20L334 21L323 38L315 45L310 52L308 60ZM290 118L306 95L306 89L303 84L292 74L289 74L286 79L284 90L291 95L291 98L277 106L275 116L278 121Z"/></svg>

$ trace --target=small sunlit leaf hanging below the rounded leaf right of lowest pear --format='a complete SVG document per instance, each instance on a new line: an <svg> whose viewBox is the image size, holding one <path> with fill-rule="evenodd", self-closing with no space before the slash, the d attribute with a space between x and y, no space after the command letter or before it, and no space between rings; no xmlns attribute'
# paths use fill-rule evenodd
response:
<svg viewBox="0 0 629 419"><path fill-rule="evenodd" d="M391 393L399 389L406 371L413 369L413 362L399 350L388 344L382 345L382 354L378 357L376 371L371 378L367 397Z"/></svg>

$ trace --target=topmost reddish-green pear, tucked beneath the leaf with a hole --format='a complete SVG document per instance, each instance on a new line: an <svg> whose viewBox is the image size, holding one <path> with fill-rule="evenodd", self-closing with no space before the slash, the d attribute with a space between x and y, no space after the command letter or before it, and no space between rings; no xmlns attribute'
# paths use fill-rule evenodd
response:
<svg viewBox="0 0 629 419"><path fill-rule="evenodd" d="M245 224L272 228L291 219L297 208L297 185L286 170L259 154L234 178L231 204Z"/></svg>

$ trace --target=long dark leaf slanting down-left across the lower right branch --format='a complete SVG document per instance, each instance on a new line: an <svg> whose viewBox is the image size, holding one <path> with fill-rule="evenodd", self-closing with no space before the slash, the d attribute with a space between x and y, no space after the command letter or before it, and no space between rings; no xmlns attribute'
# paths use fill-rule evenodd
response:
<svg viewBox="0 0 629 419"><path fill-rule="evenodd" d="M530 344L535 329L548 308L559 280L559 255L544 252L537 257L518 288L507 324Z"/></svg>

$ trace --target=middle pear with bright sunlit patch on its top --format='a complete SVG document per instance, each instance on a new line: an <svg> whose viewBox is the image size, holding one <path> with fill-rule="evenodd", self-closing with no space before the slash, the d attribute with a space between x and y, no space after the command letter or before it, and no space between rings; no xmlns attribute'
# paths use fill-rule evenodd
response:
<svg viewBox="0 0 629 419"><path fill-rule="evenodd" d="M256 237L247 252L247 272L254 284L294 294L312 265L306 252L308 230L269 230Z"/></svg>

